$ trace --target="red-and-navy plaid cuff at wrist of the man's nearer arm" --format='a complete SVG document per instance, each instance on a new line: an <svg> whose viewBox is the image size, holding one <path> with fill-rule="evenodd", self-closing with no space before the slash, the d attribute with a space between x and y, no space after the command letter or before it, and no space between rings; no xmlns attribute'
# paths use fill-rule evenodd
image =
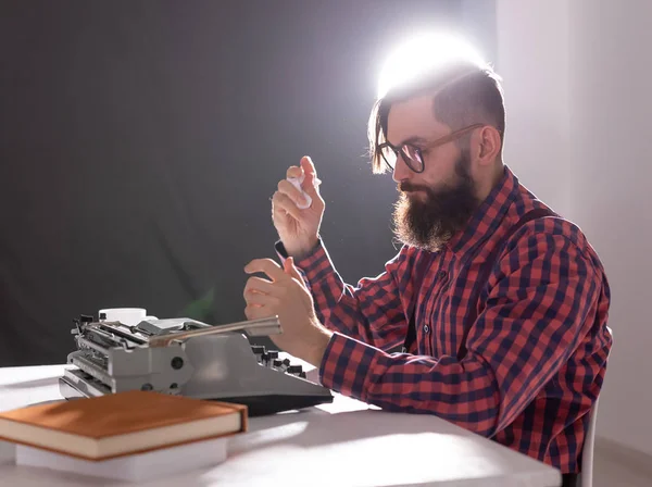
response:
<svg viewBox="0 0 652 487"><path fill-rule="evenodd" d="M344 396L365 401L371 371L384 352L335 332L319 364L319 383Z"/></svg>

